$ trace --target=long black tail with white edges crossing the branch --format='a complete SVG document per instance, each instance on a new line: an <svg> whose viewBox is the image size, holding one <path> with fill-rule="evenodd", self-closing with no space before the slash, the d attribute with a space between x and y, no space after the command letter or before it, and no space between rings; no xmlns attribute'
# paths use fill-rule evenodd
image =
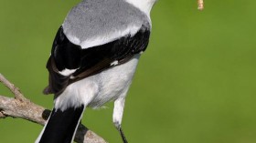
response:
<svg viewBox="0 0 256 143"><path fill-rule="evenodd" d="M36 143L71 143L74 139L84 106L64 111L53 108L45 128Z"/></svg>

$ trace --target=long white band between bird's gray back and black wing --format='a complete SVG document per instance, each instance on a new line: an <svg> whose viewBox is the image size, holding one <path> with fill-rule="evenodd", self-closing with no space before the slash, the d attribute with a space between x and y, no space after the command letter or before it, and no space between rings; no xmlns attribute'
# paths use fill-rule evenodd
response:
<svg viewBox="0 0 256 143"><path fill-rule="evenodd" d="M96 37L90 37L85 41L80 41L80 39L76 36L71 36L68 34L65 34L69 41L72 42L75 45L81 46L82 49L90 48L93 46L101 46L106 43L112 42L116 39L119 39L120 37L131 35L134 36L139 30L141 26L129 26L124 30L116 30L110 34L102 35L102 36L96 36ZM65 32L65 31L64 31Z"/></svg>

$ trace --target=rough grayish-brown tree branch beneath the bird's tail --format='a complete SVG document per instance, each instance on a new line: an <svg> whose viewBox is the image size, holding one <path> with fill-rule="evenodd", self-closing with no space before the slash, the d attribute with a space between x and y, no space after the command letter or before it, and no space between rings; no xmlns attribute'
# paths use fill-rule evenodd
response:
<svg viewBox="0 0 256 143"><path fill-rule="evenodd" d="M20 90L15 87L14 84L9 82L2 74L0 74L0 82L2 82L5 87L9 88L15 95L14 98L0 96L0 118L20 117L42 126L45 125L46 120L50 115L50 110L40 107L28 100ZM103 138L82 124L80 124L78 128L75 141L78 143L106 143Z"/></svg>

